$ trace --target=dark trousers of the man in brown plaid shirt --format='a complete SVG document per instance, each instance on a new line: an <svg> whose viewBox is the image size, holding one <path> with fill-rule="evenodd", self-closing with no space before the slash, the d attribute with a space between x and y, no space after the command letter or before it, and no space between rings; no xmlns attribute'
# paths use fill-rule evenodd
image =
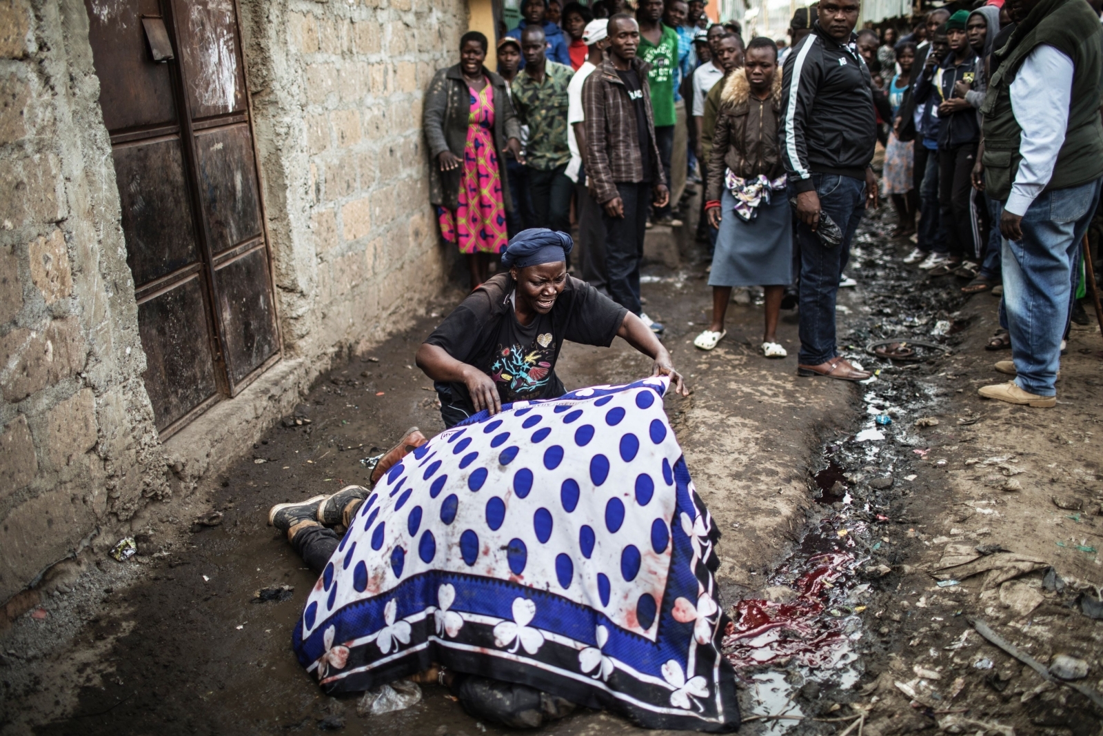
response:
<svg viewBox="0 0 1103 736"><path fill-rule="evenodd" d="M610 217L603 210L601 214L606 225L609 296L633 314L641 310L640 262L643 260L643 236L647 232L651 186L651 182L617 182L624 216Z"/></svg>

